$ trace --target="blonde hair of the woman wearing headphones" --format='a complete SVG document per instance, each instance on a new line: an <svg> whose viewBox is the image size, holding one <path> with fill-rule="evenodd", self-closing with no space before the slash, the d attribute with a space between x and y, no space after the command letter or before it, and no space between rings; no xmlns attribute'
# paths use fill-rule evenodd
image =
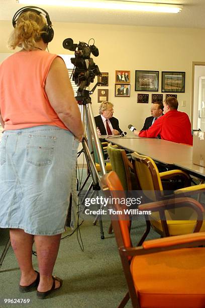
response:
<svg viewBox="0 0 205 308"><path fill-rule="evenodd" d="M15 49L17 46L26 50L33 49L36 42L41 40L45 26L46 20L41 14L38 15L32 11L22 13L9 38L8 47L10 49Z"/></svg>

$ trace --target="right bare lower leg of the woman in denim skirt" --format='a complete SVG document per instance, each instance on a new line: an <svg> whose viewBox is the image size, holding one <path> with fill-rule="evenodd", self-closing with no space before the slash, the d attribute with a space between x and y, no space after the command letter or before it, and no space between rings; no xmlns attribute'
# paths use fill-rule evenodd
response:
<svg viewBox="0 0 205 308"><path fill-rule="evenodd" d="M58 255L61 234L55 236L34 236L40 272L38 291L46 292L53 284L52 272ZM55 282L57 288L60 282Z"/></svg>

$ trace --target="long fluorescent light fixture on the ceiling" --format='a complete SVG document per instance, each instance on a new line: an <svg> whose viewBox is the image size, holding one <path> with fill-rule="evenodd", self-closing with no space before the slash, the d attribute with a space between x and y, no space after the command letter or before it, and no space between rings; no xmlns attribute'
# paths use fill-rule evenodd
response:
<svg viewBox="0 0 205 308"><path fill-rule="evenodd" d="M16 0L19 4L26 5L48 5L63 6L70 8L87 9L109 9L122 11L141 11L141 12L159 12L159 13L179 13L182 10L180 5L145 3L135 1L112 1L112 0Z"/></svg>

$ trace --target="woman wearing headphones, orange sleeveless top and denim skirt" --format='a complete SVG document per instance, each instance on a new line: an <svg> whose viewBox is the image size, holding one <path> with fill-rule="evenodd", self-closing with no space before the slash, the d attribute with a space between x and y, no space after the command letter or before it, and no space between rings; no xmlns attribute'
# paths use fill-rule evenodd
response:
<svg viewBox="0 0 205 308"><path fill-rule="evenodd" d="M48 13L22 8L13 26L9 46L21 50L0 65L0 227L10 228L19 290L36 288L45 298L62 285L52 272L68 208L70 226L76 226L75 163L83 126L65 63L45 51L54 34ZM39 273L32 265L33 241Z"/></svg>

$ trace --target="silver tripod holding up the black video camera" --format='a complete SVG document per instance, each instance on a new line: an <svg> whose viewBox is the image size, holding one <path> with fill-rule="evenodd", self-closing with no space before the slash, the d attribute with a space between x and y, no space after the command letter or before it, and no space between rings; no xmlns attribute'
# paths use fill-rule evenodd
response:
<svg viewBox="0 0 205 308"><path fill-rule="evenodd" d="M88 90L83 90L80 96L75 97L78 104L81 107L82 122L86 123L86 134L87 134L87 138L84 136L82 139L82 152L84 152L85 159L87 162L88 175L82 185L82 188L78 192L78 196L80 195L90 175L92 177L92 183L90 184L86 194L83 197L83 200L81 202L82 204L84 200L86 199L86 197L88 196L91 189L93 189L91 196L100 190L100 186L99 186L100 177L95 167L92 139L94 141L94 145L96 148L101 173L103 175L106 174L104 157L102 154L101 144L100 144L100 141L97 135L96 125L95 125L92 108L91 108L91 98L89 97L89 94L93 93L93 90L96 88L96 86L97 84L94 86L92 91L89 92ZM100 209L100 205L99 205L99 209ZM98 215L98 217L99 217L100 235L101 235L101 239L103 240L105 239L105 236L104 236L104 229L102 226L101 215Z"/></svg>

